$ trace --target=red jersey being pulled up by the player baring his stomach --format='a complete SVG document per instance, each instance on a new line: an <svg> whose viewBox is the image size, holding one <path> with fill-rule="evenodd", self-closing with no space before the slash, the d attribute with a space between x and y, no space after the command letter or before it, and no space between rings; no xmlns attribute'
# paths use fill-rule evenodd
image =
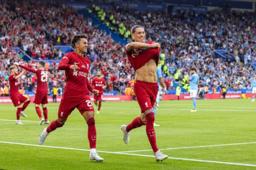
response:
<svg viewBox="0 0 256 170"><path fill-rule="evenodd" d="M154 44L154 41L145 42L147 44ZM126 48L125 48L126 51ZM134 68L134 71L141 68L145 65L150 59L156 59L156 65L159 62L159 50L157 48L148 48L146 50L140 50L139 55L135 58L131 56L132 51L126 51L128 60L131 63L131 66Z"/></svg>

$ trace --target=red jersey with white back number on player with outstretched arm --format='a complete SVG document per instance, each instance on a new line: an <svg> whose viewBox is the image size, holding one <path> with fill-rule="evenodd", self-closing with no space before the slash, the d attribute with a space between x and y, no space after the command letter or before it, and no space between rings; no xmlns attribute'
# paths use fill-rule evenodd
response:
<svg viewBox="0 0 256 170"><path fill-rule="evenodd" d="M31 71L36 74L37 77L37 88L36 91L48 91L47 81L48 81L48 72L47 70L38 70L32 69L24 65L19 65L21 68Z"/></svg>

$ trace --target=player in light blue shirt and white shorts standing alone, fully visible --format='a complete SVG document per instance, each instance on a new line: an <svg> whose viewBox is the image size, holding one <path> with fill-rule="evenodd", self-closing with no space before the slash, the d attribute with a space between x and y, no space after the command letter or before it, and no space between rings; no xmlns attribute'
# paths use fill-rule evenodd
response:
<svg viewBox="0 0 256 170"><path fill-rule="evenodd" d="M199 82L199 76L198 74L196 74L196 69L195 68L191 68L190 69L190 77L189 77L189 86L190 86L190 97L192 99L193 105L194 105L194 109L191 110L191 112L196 112L196 101L195 101L195 97L197 96L197 92L198 92L198 82Z"/></svg>

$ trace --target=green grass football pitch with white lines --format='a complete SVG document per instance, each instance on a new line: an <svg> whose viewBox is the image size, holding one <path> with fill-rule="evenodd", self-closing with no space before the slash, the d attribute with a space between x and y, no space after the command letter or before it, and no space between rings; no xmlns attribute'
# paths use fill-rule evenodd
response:
<svg viewBox="0 0 256 170"><path fill-rule="evenodd" d="M59 103L49 103L48 116L57 118ZM31 103L15 125L16 108L0 105L0 169L3 170L250 170L256 169L256 102L251 99L161 101L155 127L158 148L169 159L156 162L145 126L131 130L124 144L120 126L140 115L133 102L102 102L95 114L97 152L103 162L89 161L87 124L78 110L65 125L38 136L47 125Z"/></svg>

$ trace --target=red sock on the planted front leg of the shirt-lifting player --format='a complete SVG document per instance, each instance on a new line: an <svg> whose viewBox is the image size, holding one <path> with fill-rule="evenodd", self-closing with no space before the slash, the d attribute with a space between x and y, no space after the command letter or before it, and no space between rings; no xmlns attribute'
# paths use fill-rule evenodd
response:
<svg viewBox="0 0 256 170"><path fill-rule="evenodd" d="M148 113L146 115L146 133L148 136L148 140L150 145L154 151L154 153L158 150L157 141L156 141L156 133L154 130L154 113Z"/></svg>

